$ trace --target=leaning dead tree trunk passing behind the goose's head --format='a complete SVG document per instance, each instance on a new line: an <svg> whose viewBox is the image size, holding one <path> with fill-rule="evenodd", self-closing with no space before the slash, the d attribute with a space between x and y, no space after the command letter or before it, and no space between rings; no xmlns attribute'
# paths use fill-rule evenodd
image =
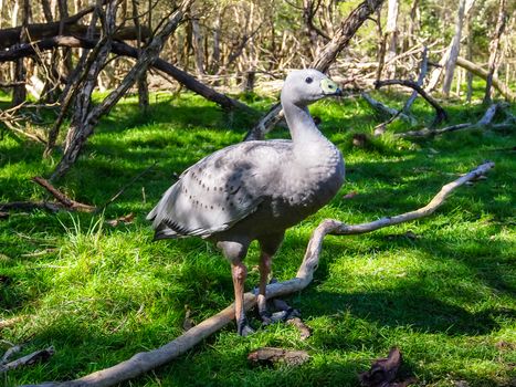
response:
<svg viewBox="0 0 516 387"><path fill-rule="evenodd" d="M331 40L320 50L317 57L310 63L312 69L320 72L328 71L337 55L349 44L351 38L383 3L383 0L366 0L360 3L341 22ZM281 119L282 106L275 104L245 135L245 140L262 139Z"/></svg>

